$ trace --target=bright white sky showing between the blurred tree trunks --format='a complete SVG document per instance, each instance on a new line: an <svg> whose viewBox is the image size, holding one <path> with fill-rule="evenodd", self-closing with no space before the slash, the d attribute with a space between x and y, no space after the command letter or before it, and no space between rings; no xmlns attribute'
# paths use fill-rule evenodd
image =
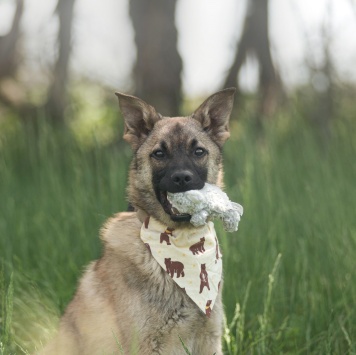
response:
<svg viewBox="0 0 356 355"><path fill-rule="evenodd" d="M341 79L356 80L355 0L270 0L270 37L273 58L287 85L305 80L306 49L321 57L320 33L328 18L332 49ZM54 58L57 21L55 0L26 0L24 44L33 68L48 69ZM329 6L330 16L327 16ZM217 90L233 59L246 0L179 0L176 24L183 58L183 89L188 95ZM8 30L12 0L0 0L0 34ZM114 89L130 89L135 60L128 0L77 0L72 69L104 81ZM307 41L306 41L307 38ZM249 61L240 82L253 90L257 69Z"/></svg>

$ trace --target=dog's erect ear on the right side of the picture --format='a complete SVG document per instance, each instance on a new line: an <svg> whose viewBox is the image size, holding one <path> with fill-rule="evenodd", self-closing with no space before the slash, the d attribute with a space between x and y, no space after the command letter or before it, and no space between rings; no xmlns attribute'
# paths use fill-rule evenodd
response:
<svg viewBox="0 0 356 355"><path fill-rule="evenodd" d="M235 88L218 91L207 98L192 115L219 146L230 137L229 119L235 91Z"/></svg>

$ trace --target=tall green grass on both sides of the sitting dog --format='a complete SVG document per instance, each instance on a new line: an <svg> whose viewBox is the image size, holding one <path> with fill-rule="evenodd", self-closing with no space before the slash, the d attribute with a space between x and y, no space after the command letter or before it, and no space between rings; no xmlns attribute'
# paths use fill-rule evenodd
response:
<svg viewBox="0 0 356 355"><path fill-rule="evenodd" d="M356 354L356 124L327 145L290 111L260 137L232 124L224 151L239 231L218 225L226 354ZM129 148L68 132L0 136L0 354L32 353L55 331L98 230L126 210Z"/></svg>

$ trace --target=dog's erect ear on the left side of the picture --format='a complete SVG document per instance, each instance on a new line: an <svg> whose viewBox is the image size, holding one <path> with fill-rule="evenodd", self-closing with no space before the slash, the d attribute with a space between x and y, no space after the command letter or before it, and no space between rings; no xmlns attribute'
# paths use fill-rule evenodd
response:
<svg viewBox="0 0 356 355"><path fill-rule="evenodd" d="M125 120L124 139L137 149L146 139L154 124L162 118L154 107L138 97L116 92Z"/></svg>

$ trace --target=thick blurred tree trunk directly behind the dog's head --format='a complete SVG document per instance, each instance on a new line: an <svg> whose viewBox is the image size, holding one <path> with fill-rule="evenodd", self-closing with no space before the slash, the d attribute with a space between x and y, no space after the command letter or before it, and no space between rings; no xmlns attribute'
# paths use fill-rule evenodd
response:
<svg viewBox="0 0 356 355"><path fill-rule="evenodd" d="M135 94L163 115L177 114L181 104L175 7L176 0L130 0L137 48Z"/></svg>

